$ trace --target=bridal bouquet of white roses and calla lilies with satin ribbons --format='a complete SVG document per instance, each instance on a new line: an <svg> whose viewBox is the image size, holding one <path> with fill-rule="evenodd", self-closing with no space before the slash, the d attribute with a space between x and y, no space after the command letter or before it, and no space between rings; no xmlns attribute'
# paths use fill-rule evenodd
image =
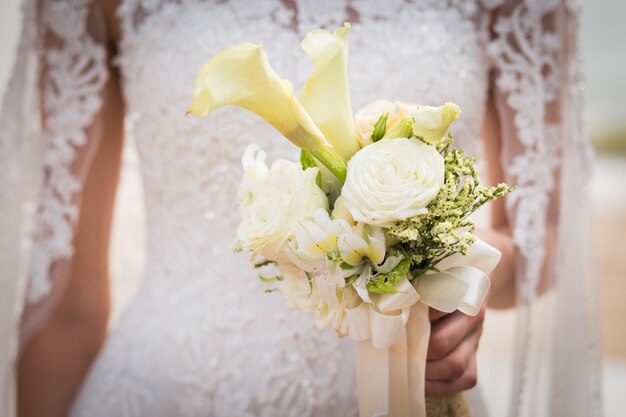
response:
<svg viewBox="0 0 626 417"><path fill-rule="evenodd" d="M240 106L301 149L269 167L245 151L237 249L275 271L261 279L288 307L357 341L362 417L423 416L428 307L478 313L500 254L468 216L511 189L481 186L452 146L454 103L376 101L353 116L348 32L304 38L315 70L298 97L261 45L225 49L199 71L189 113Z"/></svg>

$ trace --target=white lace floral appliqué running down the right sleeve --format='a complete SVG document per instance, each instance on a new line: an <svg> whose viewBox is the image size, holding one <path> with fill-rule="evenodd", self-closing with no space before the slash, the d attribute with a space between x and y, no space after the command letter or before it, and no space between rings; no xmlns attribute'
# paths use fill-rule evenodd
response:
<svg viewBox="0 0 626 417"><path fill-rule="evenodd" d="M499 71L497 87L506 94L522 151L508 167L518 189L507 204L515 207L513 241L527 262L520 286L524 300L536 292L545 257L545 231L550 192L559 167L560 125L548 121L547 108L558 98L560 68L555 59L560 40L542 19L557 6L555 1L520 2L494 26L490 55ZM548 140L547 138L551 138Z"/></svg>

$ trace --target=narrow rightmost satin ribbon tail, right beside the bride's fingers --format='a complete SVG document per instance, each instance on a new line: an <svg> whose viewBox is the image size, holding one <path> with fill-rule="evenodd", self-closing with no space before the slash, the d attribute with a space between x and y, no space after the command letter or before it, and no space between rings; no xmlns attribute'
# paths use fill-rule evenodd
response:
<svg viewBox="0 0 626 417"><path fill-rule="evenodd" d="M426 417L426 353L430 339L430 319L426 304L417 303L411 308L406 328L410 415Z"/></svg>

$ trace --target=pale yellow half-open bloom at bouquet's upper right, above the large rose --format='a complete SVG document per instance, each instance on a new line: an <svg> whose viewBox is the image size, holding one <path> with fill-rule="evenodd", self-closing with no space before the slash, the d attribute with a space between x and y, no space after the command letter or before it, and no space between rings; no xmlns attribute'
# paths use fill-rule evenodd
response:
<svg viewBox="0 0 626 417"><path fill-rule="evenodd" d="M447 102L443 106L418 106L412 114L413 134L425 142L439 146L446 141L450 125L461 115L459 106Z"/></svg>

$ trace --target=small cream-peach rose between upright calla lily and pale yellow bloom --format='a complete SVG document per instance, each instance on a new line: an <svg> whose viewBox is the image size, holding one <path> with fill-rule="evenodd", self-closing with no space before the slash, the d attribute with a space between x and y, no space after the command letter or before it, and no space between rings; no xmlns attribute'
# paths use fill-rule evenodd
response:
<svg viewBox="0 0 626 417"><path fill-rule="evenodd" d="M376 100L367 106L361 108L354 115L354 125L359 135L361 147L365 147L372 143L372 133L376 122L385 113L387 116L387 129L391 129L393 125L402 119L411 110L417 106L414 104L396 101L392 103L387 100Z"/></svg>

